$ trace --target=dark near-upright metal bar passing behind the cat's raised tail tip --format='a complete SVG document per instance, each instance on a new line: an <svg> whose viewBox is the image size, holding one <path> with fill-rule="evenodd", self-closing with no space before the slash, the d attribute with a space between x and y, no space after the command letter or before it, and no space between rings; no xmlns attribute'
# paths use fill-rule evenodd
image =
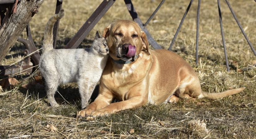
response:
<svg viewBox="0 0 256 139"><path fill-rule="evenodd" d="M61 11L61 6L62 6L62 2L60 2L59 0L57 0L56 2L56 10L55 10L55 14L58 14ZM58 28L59 28L59 22L60 20L57 20L57 22L55 22L54 26L53 26L53 48L56 48L56 43L57 43L57 35L58 35Z"/></svg>

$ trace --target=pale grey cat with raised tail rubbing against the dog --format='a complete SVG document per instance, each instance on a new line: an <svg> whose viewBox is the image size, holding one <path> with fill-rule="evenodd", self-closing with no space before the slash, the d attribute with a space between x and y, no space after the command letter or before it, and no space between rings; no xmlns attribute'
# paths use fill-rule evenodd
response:
<svg viewBox="0 0 256 139"><path fill-rule="evenodd" d="M109 48L105 38L97 31L92 46L88 49L53 49L53 25L63 16L64 10L61 10L47 22L39 69L45 79L51 106L59 106L54 94L61 83L77 82L83 109L88 105L88 100L101 78Z"/></svg>

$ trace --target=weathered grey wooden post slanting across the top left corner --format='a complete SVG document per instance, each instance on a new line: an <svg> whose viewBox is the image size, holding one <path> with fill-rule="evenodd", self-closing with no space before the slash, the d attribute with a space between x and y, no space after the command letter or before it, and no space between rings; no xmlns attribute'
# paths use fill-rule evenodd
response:
<svg viewBox="0 0 256 139"><path fill-rule="evenodd" d="M39 8L43 1L21 0L17 5L16 14L12 14L3 24L0 29L0 63L33 17L31 10L34 7Z"/></svg>

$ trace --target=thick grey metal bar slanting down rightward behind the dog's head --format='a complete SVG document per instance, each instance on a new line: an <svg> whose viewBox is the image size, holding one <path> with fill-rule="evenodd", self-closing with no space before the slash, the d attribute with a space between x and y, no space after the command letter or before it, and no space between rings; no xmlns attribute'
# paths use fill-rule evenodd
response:
<svg viewBox="0 0 256 139"><path fill-rule="evenodd" d="M131 0L124 0L126 7L130 13L130 15L132 16L132 19L138 23L138 25L141 27L141 29L146 33L147 39L149 44L151 44L155 49L162 49L162 47L157 44L155 42L155 40L152 38L152 36L150 35L150 33L148 32L148 30L146 29L146 27L143 27L143 23L141 21L141 19L139 18L139 15L137 14L132 1Z"/></svg>

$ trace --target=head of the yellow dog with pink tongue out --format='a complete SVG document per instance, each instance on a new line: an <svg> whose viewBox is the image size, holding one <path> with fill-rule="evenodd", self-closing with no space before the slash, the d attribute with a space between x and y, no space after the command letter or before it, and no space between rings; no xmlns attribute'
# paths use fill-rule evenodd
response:
<svg viewBox="0 0 256 139"><path fill-rule="evenodd" d="M115 60L131 61L142 50L149 53L146 34L139 25L129 20L117 20L104 29L110 57Z"/></svg>

